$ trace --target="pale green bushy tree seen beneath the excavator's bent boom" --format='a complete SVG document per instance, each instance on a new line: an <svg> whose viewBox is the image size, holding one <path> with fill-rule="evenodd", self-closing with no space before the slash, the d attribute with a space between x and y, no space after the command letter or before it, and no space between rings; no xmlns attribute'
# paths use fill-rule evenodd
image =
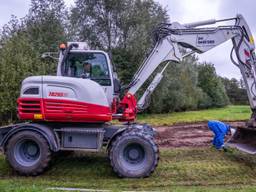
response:
<svg viewBox="0 0 256 192"><path fill-rule="evenodd" d="M189 56L181 63L171 63L159 87L152 95L149 112L167 113L197 109L205 94L197 86L197 58Z"/></svg>

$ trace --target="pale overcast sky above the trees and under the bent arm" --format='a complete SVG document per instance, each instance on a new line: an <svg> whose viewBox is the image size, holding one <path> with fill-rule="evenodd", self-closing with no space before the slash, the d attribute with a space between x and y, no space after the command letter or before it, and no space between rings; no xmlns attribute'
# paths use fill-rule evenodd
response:
<svg viewBox="0 0 256 192"><path fill-rule="evenodd" d="M171 22L188 23L207 19L221 19L242 14L256 39L256 1L255 0L157 0L169 13ZM65 0L72 6L74 0ZM30 0L1 0L0 27L7 23L11 15L24 17L29 9ZM199 55L200 61L214 63L217 73L225 77L240 78L239 70L229 59L231 42L227 42L211 51Z"/></svg>

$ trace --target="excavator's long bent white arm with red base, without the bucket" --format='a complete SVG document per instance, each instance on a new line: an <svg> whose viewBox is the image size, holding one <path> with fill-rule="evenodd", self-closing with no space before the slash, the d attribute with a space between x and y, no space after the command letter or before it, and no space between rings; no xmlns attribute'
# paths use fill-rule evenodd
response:
<svg viewBox="0 0 256 192"><path fill-rule="evenodd" d="M212 26L213 24L223 24L226 21L233 21L233 24ZM255 45L250 28L242 15L229 19L207 20L188 24L178 22L161 24L155 30L155 40L154 48L135 73L121 102L121 106L125 108L121 119L133 120L138 111L149 105L150 95L160 83L164 71L171 62L180 62L182 58L192 53L207 52L228 40L233 43L230 54L231 61L241 71L251 109L253 114L256 114ZM186 49L186 53L182 49ZM234 59L234 55L236 59ZM163 63L162 70L155 75L153 81L137 102L135 94ZM253 118L254 116L256 115L253 115Z"/></svg>

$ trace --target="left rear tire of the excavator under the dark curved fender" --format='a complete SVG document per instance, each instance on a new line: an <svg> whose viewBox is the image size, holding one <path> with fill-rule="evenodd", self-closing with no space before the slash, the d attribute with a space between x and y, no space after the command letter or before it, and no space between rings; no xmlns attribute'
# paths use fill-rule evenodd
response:
<svg viewBox="0 0 256 192"><path fill-rule="evenodd" d="M33 131L22 131L9 140L6 156L15 171L21 175L42 173L51 160L51 151L45 138Z"/></svg>

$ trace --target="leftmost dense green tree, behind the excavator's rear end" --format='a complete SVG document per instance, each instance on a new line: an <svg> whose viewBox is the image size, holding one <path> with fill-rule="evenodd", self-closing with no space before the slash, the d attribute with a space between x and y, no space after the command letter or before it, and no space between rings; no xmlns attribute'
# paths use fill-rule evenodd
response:
<svg viewBox="0 0 256 192"><path fill-rule="evenodd" d="M12 26L15 26L13 28ZM16 119L16 99L19 96L22 80L41 71L40 63L36 61L37 53L30 44L27 33L17 20L10 21L5 26L3 34L9 34L1 40L0 51L0 121Z"/></svg>

